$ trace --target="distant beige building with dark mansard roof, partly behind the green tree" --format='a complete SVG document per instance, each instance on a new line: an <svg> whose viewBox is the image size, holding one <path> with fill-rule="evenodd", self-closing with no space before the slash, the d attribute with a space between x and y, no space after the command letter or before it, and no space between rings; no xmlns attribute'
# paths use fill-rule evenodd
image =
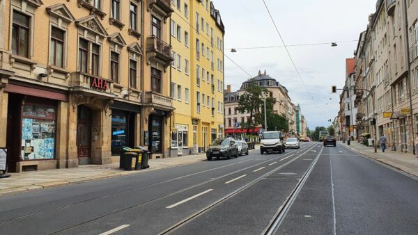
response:
<svg viewBox="0 0 418 235"><path fill-rule="evenodd" d="M242 130L240 127L235 127L236 122L242 123L247 122L249 118L249 113L240 113L238 111L238 101L240 95L245 92L245 88L249 86L250 83L255 82L258 86L267 88L269 96L275 98L273 104L273 111L283 117L286 117L289 122L289 132L297 134L297 121L306 122L304 118L301 117L297 120L297 106L291 102L291 98L288 95L288 90L281 86L281 84L272 77L268 76L267 72L258 71L258 75L252 79L249 79L242 83L241 87L237 91L231 90L231 85L227 85L225 91L225 133L229 135L240 134ZM299 127L302 127L302 124L299 124ZM254 130L249 130L249 133L256 134L257 131L261 129L257 127ZM302 130L302 128L300 128ZM306 133L306 126L304 127ZM300 131L302 132L302 131ZM301 133L298 133L301 134Z"/></svg>

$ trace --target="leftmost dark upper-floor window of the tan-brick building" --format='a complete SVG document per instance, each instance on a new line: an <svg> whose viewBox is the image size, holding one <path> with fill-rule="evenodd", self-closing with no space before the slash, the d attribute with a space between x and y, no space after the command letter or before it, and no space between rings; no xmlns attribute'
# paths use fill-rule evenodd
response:
<svg viewBox="0 0 418 235"><path fill-rule="evenodd" d="M12 53L26 58L29 57L29 20L28 16L13 11Z"/></svg>

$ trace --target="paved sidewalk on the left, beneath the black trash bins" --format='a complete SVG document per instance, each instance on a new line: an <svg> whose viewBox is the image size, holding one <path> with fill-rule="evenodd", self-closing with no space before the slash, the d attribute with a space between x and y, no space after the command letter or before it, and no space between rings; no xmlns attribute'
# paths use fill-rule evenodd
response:
<svg viewBox="0 0 418 235"><path fill-rule="evenodd" d="M95 179L141 174L177 165L186 165L206 160L206 154L178 156L167 159L150 159L150 168L124 171L119 169L119 161L107 165L80 165L78 168L39 170L31 172L8 173L9 178L0 179L0 196L23 193L41 188L52 188L77 184Z"/></svg>

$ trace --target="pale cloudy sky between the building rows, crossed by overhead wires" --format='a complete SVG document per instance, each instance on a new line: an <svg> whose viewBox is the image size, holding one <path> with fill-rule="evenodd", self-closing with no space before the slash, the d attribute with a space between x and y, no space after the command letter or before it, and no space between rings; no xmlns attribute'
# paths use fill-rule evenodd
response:
<svg viewBox="0 0 418 235"><path fill-rule="evenodd" d="M354 57L359 33L366 30L376 0L265 2L286 45L337 42L338 46L288 47L305 88L284 47L239 49L283 46L263 0L213 0L225 25L224 53L245 70L225 57L225 85L238 90L250 78L247 73L254 77L258 70L266 70L288 89L293 103L300 104L309 129L329 126L328 120L334 120L339 111L339 94L332 94L331 86L343 87L346 58Z"/></svg>

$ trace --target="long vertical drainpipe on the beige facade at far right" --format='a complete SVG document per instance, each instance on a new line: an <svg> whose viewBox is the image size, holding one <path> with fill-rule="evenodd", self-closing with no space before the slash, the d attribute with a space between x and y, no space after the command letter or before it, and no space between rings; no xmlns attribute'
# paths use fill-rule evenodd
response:
<svg viewBox="0 0 418 235"><path fill-rule="evenodd" d="M406 66L408 69L408 73L406 74L406 81L408 82L408 96L410 99L410 130L412 131L411 136L413 138L414 136L414 120L413 120L413 111L412 111L412 79L411 79L411 64L410 64L410 54L409 54L409 49L410 49L410 43L409 43L409 37L408 37L408 9L406 8L406 0L403 0L403 19L405 20L405 45L406 45ZM417 153L415 153L415 143L414 140L412 139L412 153L415 155Z"/></svg>

